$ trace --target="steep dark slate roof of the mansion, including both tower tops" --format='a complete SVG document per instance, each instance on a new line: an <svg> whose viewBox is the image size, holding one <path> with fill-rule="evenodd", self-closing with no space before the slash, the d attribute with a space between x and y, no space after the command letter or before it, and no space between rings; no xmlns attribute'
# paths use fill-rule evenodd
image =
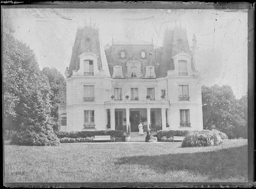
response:
<svg viewBox="0 0 256 189"><path fill-rule="evenodd" d="M86 40L87 37L90 38L90 41ZM168 70L174 70L173 56L181 52L192 55L187 41L186 30L181 27L175 26L171 30L165 30L162 47L154 47L152 42L146 42L135 38L124 38L114 41L111 46L108 45L104 47L105 50L100 46L98 29L84 27L82 29L77 29L69 66L69 73L71 75L73 70L78 70L80 68L78 56L87 52L88 48L98 56L99 70L103 67L104 70L109 68L110 73L108 73L107 76L112 76L113 66L115 65L122 66L123 75L125 76L127 71L126 62L135 59L141 62L141 71L143 75L145 75L145 67L147 65L152 65L155 66L157 78L161 78L167 75ZM143 50L146 52L145 59L140 57L140 53ZM125 52L125 59L121 58L121 51ZM149 52L151 52L151 54ZM108 66L107 63L105 63L106 60ZM193 59L191 61L192 69L195 70Z"/></svg>

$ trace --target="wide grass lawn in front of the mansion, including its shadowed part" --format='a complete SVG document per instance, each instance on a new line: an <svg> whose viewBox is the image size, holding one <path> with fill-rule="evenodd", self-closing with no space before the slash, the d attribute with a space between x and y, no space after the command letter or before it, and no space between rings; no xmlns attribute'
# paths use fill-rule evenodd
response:
<svg viewBox="0 0 256 189"><path fill-rule="evenodd" d="M247 140L4 145L5 182L247 182Z"/></svg>

